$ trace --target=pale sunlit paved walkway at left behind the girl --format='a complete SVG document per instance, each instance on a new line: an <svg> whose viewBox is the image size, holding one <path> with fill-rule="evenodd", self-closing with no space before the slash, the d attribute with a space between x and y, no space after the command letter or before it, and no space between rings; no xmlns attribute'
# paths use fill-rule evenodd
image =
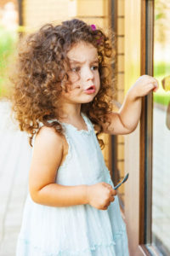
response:
<svg viewBox="0 0 170 256"><path fill-rule="evenodd" d="M0 256L14 256L27 194L31 160L26 133L10 119L6 102L0 102Z"/></svg>

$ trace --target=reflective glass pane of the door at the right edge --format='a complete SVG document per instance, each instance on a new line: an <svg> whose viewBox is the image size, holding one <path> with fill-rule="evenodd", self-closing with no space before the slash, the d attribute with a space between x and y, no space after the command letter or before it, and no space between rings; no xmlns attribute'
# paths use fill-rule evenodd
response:
<svg viewBox="0 0 170 256"><path fill-rule="evenodd" d="M170 1L155 1L152 244L170 255Z"/></svg>

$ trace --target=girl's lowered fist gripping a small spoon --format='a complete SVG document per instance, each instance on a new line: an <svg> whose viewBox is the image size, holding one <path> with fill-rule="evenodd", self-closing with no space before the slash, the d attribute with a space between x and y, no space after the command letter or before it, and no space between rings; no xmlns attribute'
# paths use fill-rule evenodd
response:
<svg viewBox="0 0 170 256"><path fill-rule="evenodd" d="M106 210L115 200L116 190L108 183L89 185L87 189L88 204L99 210Z"/></svg>

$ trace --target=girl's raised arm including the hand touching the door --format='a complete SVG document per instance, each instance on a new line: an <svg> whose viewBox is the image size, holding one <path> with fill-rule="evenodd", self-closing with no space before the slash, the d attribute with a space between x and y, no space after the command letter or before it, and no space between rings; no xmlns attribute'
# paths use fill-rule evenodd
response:
<svg viewBox="0 0 170 256"><path fill-rule="evenodd" d="M141 99L151 90L156 91L158 83L156 79L143 75L127 91L127 96L118 113L110 113L108 118L111 125L102 124L104 132L109 134L127 134L135 130L141 113Z"/></svg>

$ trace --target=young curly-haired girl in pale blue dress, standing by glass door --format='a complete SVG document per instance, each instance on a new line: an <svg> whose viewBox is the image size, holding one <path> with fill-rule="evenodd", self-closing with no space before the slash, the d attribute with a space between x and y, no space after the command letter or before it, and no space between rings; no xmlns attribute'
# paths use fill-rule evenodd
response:
<svg viewBox="0 0 170 256"><path fill-rule="evenodd" d="M157 82L140 77L111 112L111 57L109 38L76 19L42 26L20 49L14 112L34 147L17 256L128 255L99 134L132 132Z"/></svg>

